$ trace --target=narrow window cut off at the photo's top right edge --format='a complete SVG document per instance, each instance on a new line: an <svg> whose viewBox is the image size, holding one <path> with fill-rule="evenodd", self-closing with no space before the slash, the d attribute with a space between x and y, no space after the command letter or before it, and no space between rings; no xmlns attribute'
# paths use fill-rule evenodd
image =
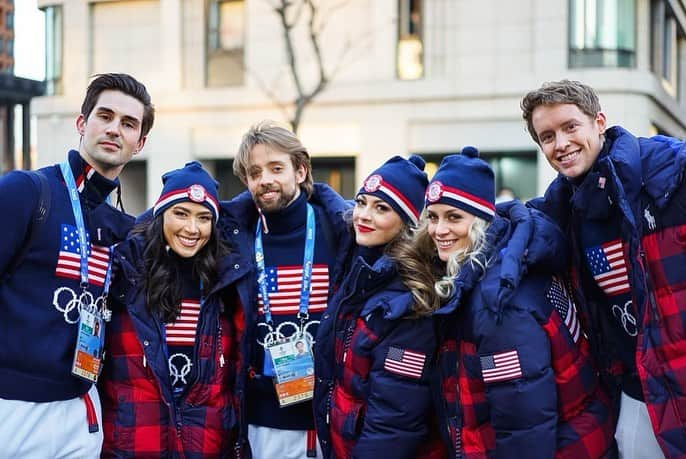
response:
<svg viewBox="0 0 686 459"><path fill-rule="evenodd" d="M684 72L681 67L684 59L681 55L686 49L684 28L665 0L651 2L651 61L652 70L662 81L665 90L682 99L684 85L681 80Z"/></svg>

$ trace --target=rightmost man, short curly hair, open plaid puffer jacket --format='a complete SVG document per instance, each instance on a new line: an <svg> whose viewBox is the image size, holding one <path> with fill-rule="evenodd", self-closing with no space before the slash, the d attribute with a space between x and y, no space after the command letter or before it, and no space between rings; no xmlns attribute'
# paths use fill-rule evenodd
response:
<svg viewBox="0 0 686 459"><path fill-rule="evenodd" d="M530 204L570 234L582 318L616 390L622 457L686 457L686 147L608 127L595 91L562 80L521 103L560 174Z"/></svg>

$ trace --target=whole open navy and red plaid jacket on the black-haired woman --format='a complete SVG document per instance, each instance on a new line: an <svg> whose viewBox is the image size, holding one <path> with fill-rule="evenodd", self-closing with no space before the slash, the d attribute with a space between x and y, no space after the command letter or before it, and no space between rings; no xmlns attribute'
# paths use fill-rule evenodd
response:
<svg viewBox="0 0 686 459"><path fill-rule="evenodd" d="M219 458L240 456L236 375L242 367L244 314L231 287L246 274L236 254L220 261L220 281L198 320L196 373L182 398L172 395L164 324L145 307L139 288L142 242L115 250L112 321L107 325L103 407L103 457ZM240 266L239 266L240 267ZM238 453L237 453L238 452Z"/></svg>

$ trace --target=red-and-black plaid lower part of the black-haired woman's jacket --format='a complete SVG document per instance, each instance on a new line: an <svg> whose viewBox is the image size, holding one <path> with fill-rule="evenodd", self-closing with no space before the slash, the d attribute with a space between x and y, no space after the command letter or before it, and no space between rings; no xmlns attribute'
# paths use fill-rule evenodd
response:
<svg viewBox="0 0 686 459"><path fill-rule="evenodd" d="M160 385L171 384L167 370L157 367L166 365L166 359L158 363L144 359L131 316L123 308L115 310L107 329L108 358L100 387L102 457L179 455L199 459L226 457L233 451L238 417L233 399L238 363L234 362L239 360L239 334L235 331L243 326L240 317L229 321L222 316L220 327L207 319L215 327L211 333L198 329L197 380L174 415L167 406L171 389Z"/></svg>

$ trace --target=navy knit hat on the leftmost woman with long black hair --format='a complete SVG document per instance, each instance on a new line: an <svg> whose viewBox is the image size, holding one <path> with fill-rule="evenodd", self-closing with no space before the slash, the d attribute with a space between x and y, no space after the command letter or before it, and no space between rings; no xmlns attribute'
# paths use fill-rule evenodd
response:
<svg viewBox="0 0 686 459"><path fill-rule="evenodd" d="M153 207L157 216L178 202L197 202L210 209L216 221L219 217L217 182L197 161L186 163L182 169L169 171L162 176L162 194Z"/></svg>

